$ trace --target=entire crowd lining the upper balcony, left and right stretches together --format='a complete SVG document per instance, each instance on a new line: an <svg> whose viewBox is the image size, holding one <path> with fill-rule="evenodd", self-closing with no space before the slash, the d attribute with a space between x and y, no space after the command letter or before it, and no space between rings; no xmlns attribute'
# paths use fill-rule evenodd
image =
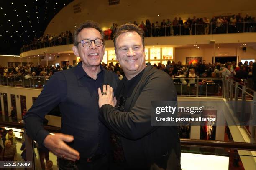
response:
<svg viewBox="0 0 256 170"><path fill-rule="evenodd" d="M141 21L138 24L134 21L133 24L139 26L144 31L145 37L157 36L175 36L175 35L202 35L202 34L221 34L221 33L238 33L238 32L256 32L256 19L248 13L243 17L242 13L232 16L213 16L211 19L187 18L186 21L181 17L175 17L174 20L163 19L160 22L150 22L149 19ZM110 27L110 36L106 36L105 40L113 40L113 35L118 27L117 23L113 23ZM30 45L23 45L21 52L35 50L38 48L52 47L57 45L66 45L73 43L71 31L61 32L57 35L43 35L40 38L34 38Z"/></svg>

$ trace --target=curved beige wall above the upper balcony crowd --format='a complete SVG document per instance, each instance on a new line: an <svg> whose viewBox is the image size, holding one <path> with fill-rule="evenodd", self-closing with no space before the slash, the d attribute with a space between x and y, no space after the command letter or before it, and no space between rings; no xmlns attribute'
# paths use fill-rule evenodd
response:
<svg viewBox="0 0 256 170"><path fill-rule="evenodd" d="M74 13L73 6L77 4L80 4L81 13ZM193 7L195 5L196 7ZM159 21L160 24L161 20L167 18L170 20L173 20L174 17L187 19L193 16L212 18L212 16L230 16L239 12L243 16L246 13L256 16L255 6L256 1L252 0L244 0L243 3L240 0L233 0L232 3L221 0L211 3L206 3L203 0L121 0L120 4L111 6L108 5L107 0L98 0L97 3L74 0L54 16L44 34L59 35L66 30L73 31L74 26L78 26L85 20L95 20L105 30L113 22L121 25L127 22L133 23L136 20L139 24L142 20L145 23L146 19L149 19L151 22Z"/></svg>

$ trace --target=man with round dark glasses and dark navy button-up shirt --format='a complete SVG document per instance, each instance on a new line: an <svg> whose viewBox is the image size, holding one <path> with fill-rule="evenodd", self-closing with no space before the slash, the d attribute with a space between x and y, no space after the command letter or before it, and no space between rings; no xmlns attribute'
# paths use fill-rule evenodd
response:
<svg viewBox="0 0 256 170"><path fill-rule="evenodd" d="M110 133L98 119L97 88L109 84L115 89L118 77L100 65L105 53L103 37L93 21L75 30L73 51L81 62L56 72L24 117L26 133L58 156L60 170L108 169ZM42 122L56 106L62 115L61 133L50 135Z"/></svg>

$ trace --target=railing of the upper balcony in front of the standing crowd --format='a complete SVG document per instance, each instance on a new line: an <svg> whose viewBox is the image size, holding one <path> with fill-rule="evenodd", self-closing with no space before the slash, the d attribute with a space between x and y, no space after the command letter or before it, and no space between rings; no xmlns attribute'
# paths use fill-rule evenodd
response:
<svg viewBox="0 0 256 170"><path fill-rule="evenodd" d="M180 36L180 35L207 35L207 34L228 34L228 33L245 33L256 32L256 22L236 22L236 23L202 23L202 24L177 24L164 26L144 27L145 37L158 36ZM105 32L105 40L110 40L113 37L112 31ZM51 40L44 40L26 45L20 49L20 53L36 50L45 47L54 47L58 45L72 44L71 37L54 37Z"/></svg>

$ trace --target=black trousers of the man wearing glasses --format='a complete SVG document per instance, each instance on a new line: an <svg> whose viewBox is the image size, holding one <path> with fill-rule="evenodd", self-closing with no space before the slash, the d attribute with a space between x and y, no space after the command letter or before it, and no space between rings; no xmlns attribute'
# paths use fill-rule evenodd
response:
<svg viewBox="0 0 256 170"><path fill-rule="evenodd" d="M58 158L58 168L59 170L110 170L110 160L108 156L92 162L82 158L76 162Z"/></svg>

